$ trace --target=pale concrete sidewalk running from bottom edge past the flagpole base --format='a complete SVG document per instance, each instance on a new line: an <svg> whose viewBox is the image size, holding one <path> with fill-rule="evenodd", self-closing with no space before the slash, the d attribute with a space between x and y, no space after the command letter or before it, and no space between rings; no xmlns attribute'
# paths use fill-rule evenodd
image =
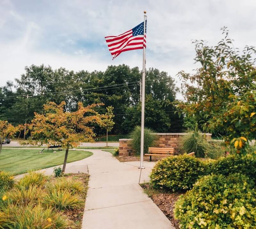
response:
<svg viewBox="0 0 256 229"><path fill-rule="evenodd" d="M154 162L121 163L111 153L90 150L84 159L90 174L82 229L171 229L171 222L143 193L139 183L148 182Z"/></svg>

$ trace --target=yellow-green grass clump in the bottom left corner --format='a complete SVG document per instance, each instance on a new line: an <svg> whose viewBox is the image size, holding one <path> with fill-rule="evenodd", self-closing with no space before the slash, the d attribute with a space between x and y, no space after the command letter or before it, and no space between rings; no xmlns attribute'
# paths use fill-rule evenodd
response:
<svg viewBox="0 0 256 229"><path fill-rule="evenodd" d="M69 221L60 212L43 209L40 205L35 207L9 205L0 212L0 228L66 229L69 226Z"/></svg>

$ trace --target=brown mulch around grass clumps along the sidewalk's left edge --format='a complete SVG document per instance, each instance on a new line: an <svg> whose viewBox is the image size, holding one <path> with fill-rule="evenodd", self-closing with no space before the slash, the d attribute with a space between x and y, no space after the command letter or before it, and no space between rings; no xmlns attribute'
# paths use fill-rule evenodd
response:
<svg viewBox="0 0 256 229"><path fill-rule="evenodd" d="M89 175L88 174L65 174L65 177L73 177L76 181L82 181L84 183L85 192L82 196L82 199L86 199L87 190L88 190L88 182ZM55 177L50 177L50 182L54 182L56 180ZM82 225L82 218L84 214L84 208L76 211L64 211L63 215L67 216L69 220L72 220L74 224L72 227L68 227L67 229L80 229Z"/></svg>

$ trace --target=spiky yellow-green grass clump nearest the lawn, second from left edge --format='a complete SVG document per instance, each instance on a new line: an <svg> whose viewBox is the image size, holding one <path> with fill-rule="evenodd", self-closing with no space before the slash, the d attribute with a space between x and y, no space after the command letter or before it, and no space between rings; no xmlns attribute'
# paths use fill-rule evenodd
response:
<svg viewBox="0 0 256 229"><path fill-rule="evenodd" d="M17 188L26 188L28 189L30 186L40 187L45 184L47 181L47 177L42 173L37 172L29 172L23 178L18 181L16 187Z"/></svg>

